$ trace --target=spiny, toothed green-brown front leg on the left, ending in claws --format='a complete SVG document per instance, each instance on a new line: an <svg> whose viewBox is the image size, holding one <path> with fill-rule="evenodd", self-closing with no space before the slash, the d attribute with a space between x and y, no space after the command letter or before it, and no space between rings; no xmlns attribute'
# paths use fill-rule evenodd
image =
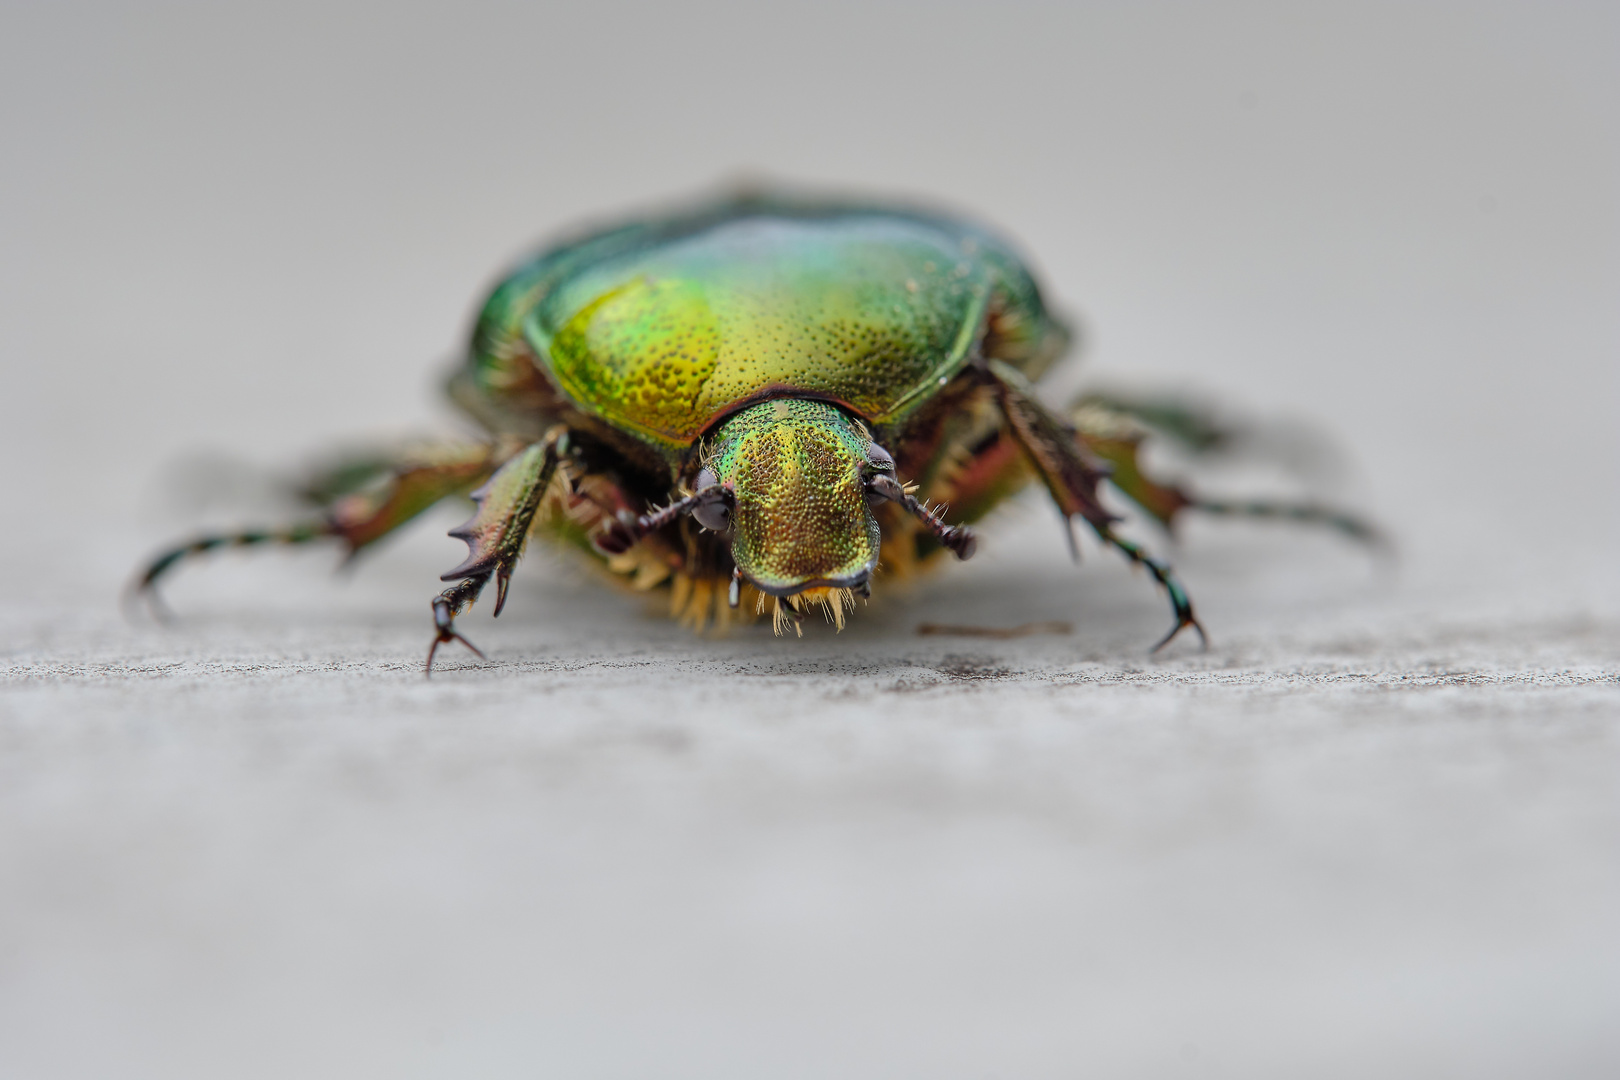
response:
<svg viewBox="0 0 1620 1080"><path fill-rule="evenodd" d="M441 644L460 641L478 653L471 641L455 630L455 617L478 599L491 578L496 581L496 610L505 607L512 568L528 546L528 529L535 513L557 474L557 465L569 452L569 432L552 429L546 439L517 453L496 470L489 483L473 492L478 510L450 536L467 541L467 559L441 581L454 581L433 601L434 638L428 648L426 674L433 675L433 657ZM478 653L483 657L483 653Z"/></svg>

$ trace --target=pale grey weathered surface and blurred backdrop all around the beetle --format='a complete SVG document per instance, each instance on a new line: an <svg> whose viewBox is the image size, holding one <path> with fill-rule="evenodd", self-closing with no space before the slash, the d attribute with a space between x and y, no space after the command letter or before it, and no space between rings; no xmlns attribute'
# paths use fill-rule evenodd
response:
<svg viewBox="0 0 1620 1080"><path fill-rule="evenodd" d="M65 10L0 26L0 1077L1620 1075L1610 15ZM531 238L750 162L977 207L1098 379L1320 429L1398 559L1132 525L1212 636L1149 657L1040 499L804 640L535 552L428 682L446 507L120 615L447 426Z"/></svg>

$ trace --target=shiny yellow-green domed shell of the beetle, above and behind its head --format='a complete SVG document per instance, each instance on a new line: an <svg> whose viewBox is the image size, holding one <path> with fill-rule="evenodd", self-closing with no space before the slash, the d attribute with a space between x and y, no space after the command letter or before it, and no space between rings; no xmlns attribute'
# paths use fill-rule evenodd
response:
<svg viewBox="0 0 1620 1080"><path fill-rule="evenodd" d="M1000 355L1032 374L1068 340L1019 257L970 223L742 199L520 267L484 306L455 393L494 413L538 364L572 402L677 458L773 387L901 424L972 361L991 316Z"/></svg>

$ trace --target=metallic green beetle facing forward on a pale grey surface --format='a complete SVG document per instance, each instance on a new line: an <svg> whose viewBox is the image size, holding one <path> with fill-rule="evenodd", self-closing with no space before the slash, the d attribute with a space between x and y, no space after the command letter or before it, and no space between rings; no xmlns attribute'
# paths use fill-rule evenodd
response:
<svg viewBox="0 0 1620 1080"><path fill-rule="evenodd" d="M449 390L486 440L345 461L309 486L319 518L181 544L138 586L222 546L335 538L353 554L476 487L452 531L468 557L433 601L429 672L441 644L473 648L455 615L491 580L501 614L535 531L667 586L695 628L768 604L778 633L812 606L842 627L880 567L967 559L966 523L1038 476L1066 521L1163 586L1160 648L1204 630L1170 567L1115 531L1105 479L1166 526L1202 508L1371 536L1311 504L1202 502L1150 479L1144 434L1196 442L1205 419L1095 395L1050 411L1030 384L1068 342L1003 240L938 214L750 196L593 232L484 304Z"/></svg>

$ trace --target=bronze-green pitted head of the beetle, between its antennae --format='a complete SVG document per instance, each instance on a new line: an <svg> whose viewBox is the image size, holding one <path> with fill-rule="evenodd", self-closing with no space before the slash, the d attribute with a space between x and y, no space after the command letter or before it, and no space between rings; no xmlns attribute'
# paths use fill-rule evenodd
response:
<svg viewBox="0 0 1620 1080"><path fill-rule="evenodd" d="M826 402L778 398L714 436L705 461L735 495L731 555L765 593L852 586L878 562L867 507L872 440Z"/></svg>

